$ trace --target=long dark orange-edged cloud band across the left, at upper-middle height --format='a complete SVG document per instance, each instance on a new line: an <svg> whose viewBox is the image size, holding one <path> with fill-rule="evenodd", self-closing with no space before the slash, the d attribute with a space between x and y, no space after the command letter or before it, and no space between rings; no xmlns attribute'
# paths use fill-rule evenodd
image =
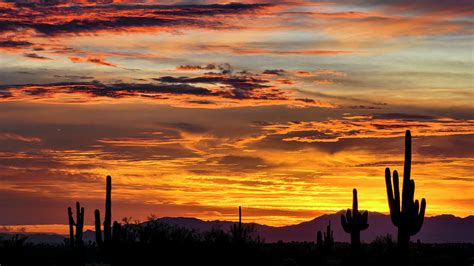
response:
<svg viewBox="0 0 474 266"><path fill-rule="evenodd" d="M249 77L161 77L159 83L64 82L0 86L3 101L56 103L99 102L103 99L141 99L180 107L223 108L258 105L332 107L314 99L293 97L291 91ZM199 84L205 85L204 87ZM191 97L184 97L191 96Z"/></svg>

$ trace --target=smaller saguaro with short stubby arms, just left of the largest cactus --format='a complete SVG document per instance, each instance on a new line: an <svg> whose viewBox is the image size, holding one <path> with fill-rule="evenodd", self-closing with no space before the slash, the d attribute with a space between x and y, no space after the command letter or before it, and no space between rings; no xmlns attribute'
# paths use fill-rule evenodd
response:
<svg viewBox="0 0 474 266"><path fill-rule="evenodd" d="M357 202L357 189L352 190L352 211L347 209L346 215L341 215L341 225L344 231L351 234L351 246L353 250L360 247L360 231L369 227L367 211L360 213Z"/></svg>

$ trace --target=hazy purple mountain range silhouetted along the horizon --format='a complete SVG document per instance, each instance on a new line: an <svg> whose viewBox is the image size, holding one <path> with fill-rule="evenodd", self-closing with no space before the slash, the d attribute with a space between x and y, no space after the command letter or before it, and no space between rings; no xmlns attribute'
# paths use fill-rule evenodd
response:
<svg viewBox="0 0 474 266"><path fill-rule="evenodd" d="M340 224L340 216L343 211L335 214L325 214L314 218L311 221L295 225L274 227L268 225L255 224L257 234L265 242L291 242L291 241L315 241L318 230L325 230L326 225L331 221L334 230L334 239L337 242L350 242L349 234L345 233ZM158 221L173 224L179 227L194 229L199 232L209 231L212 228L230 230L234 222L230 221L203 221L196 218L185 217L163 217ZM369 228L361 233L363 242L371 242L377 236L391 234L396 239L396 227L390 221L390 216L371 212L369 214ZM64 241L63 236L54 234L28 234L28 240L33 243L47 242L59 244ZM454 215L438 215L425 217L423 227L417 235L412 237L412 241L420 239L424 243L474 243L474 216L466 218ZM84 232L84 241L95 241L95 232L87 230Z"/></svg>

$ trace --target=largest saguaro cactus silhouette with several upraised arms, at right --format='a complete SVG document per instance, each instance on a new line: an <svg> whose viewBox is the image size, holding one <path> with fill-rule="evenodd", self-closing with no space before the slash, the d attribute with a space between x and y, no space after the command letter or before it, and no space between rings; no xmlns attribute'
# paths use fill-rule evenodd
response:
<svg viewBox="0 0 474 266"><path fill-rule="evenodd" d="M413 201L415 195L415 181L410 179L411 174L411 134L407 130L405 134L405 164L403 169L403 190L400 206L400 190L398 187L398 172L393 171L393 189L390 176L390 168L385 169L385 184L387 186L388 206L392 223L398 227L398 247L402 251L408 251L410 236L415 235L423 225L425 217L426 201ZM400 208L401 207L401 208Z"/></svg>

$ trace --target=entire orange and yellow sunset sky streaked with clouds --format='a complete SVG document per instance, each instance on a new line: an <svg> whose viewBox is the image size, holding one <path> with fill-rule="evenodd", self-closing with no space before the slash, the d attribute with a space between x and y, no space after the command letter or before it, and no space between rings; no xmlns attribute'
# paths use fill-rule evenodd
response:
<svg viewBox="0 0 474 266"><path fill-rule="evenodd" d="M406 129L474 214L472 1L54 1L0 1L0 225L92 225L106 175L115 220L387 213Z"/></svg>

